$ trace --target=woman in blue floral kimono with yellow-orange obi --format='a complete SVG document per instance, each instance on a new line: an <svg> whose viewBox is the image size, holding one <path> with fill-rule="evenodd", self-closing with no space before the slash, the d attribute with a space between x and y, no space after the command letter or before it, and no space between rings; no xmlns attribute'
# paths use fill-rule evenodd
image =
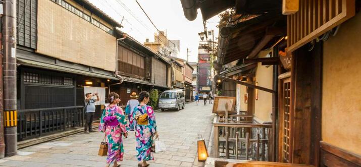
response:
<svg viewBox="0 0 361 167"><path fill-rule="evenodd" d="M133 116L130 117L130 124L134 125L137 141L136 151L138 166L148 166L147 160L153 160L151 147L153 137L158 138L156 117L151 106L146 105L149 101L149 93L142 91L139 94L139 105L134 108Z"/></svg>

